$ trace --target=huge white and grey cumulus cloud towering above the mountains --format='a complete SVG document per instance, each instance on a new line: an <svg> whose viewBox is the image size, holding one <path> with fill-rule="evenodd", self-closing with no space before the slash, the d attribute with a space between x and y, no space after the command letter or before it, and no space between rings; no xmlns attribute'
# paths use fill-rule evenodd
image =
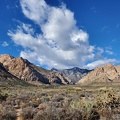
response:
<svg viewBox="0 0 120 120"><path fill-rule="evenodd" d="M32 25L22 23L8 31L14 43L24 48L21 57L48 68L83 67L95 59L88 33L77 27L74 13L65 5L54 7L44 0L21 0L20 5L23 14L41 30L35 33Z"/></svg>

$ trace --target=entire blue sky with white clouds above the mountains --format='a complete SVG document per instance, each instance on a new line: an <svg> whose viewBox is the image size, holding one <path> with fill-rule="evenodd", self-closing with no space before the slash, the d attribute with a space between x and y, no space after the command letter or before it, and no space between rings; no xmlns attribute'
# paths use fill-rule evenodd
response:
<svg viewBox="0 0 120 120"><path fill-rule="evenodd" d="M0 54L45 68L120 63L119 0L4 0Z"/></svg>

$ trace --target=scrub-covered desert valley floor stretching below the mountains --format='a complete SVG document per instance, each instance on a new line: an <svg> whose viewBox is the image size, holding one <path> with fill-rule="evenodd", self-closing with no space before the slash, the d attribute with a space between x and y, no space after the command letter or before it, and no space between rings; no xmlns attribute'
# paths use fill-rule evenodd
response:
<svg viewBox="0 0 120 120"><path fill-rule="evenodd" d="M0 120L120 120L120 84L0 87Z"/></svg>

